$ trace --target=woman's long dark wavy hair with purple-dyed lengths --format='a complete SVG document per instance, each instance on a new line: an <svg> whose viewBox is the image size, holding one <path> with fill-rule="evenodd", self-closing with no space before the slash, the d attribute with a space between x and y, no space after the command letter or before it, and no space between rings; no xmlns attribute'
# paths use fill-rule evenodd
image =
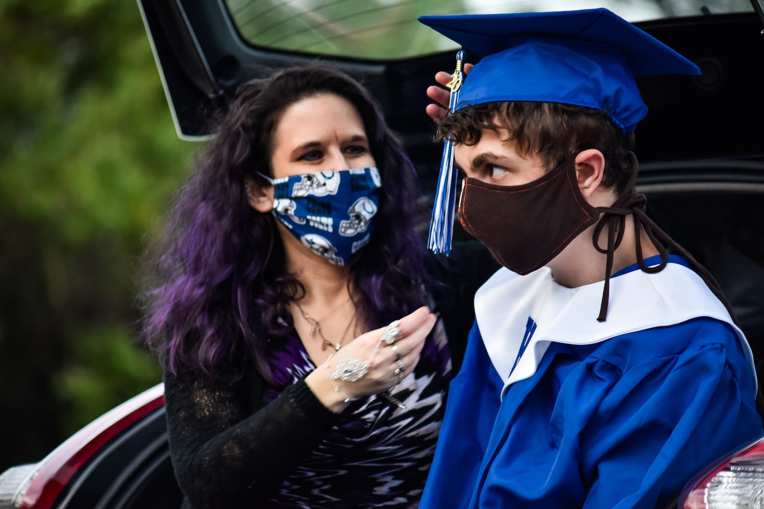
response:
<svg viewBox="0 0 764 509"><path fill-rule="evenodd" d="M220 378L248 358L271 379L265 344L293 330L287 306L305 289L286 271L273 214L251 208L244 180L264 184L257 172L272 176L270 148L283 111L325 92L358 110L382 177L374 236L350 267L359 318L377 328L427 303L425 243L415 232L418 180L377 103L338 70L284 69L239 89L147 251L142 332L170 372L201 369Z"/></svg>

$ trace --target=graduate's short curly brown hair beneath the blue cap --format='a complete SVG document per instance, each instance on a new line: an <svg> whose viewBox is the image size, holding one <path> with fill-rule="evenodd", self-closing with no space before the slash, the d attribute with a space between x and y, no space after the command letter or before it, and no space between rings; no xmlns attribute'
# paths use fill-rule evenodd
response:
<svg viewBox="0 0 764 509"><path fill-rule="evenodd" d="M629 179L634 134L624 133L605 111L557 102L503 101L471 105L446 115L436 138L474 145L484 129L507 129L506 141L516 143L521 156L538 154L546 169L581 150L597 149L605 156L604 186L620 195Z"/></svg>

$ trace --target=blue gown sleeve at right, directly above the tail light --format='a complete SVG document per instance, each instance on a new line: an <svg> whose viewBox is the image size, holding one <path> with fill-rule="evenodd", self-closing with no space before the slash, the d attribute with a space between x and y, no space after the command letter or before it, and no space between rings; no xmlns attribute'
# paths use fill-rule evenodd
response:
<svg viewBox="0 0 764 509"><path fill-rule="evenodd" d="M581 430L584 507L662 507L698 470L761 436L735 333L703 322L695 333L712 341L623 372Z"/></svg>

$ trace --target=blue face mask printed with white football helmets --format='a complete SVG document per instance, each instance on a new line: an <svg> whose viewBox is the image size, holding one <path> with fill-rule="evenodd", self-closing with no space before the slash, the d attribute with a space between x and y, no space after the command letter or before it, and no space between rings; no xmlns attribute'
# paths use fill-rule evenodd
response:
<svg viewBox="0 0 764 509"><path fill-rule="evenodd" d="M376 168L270 179L274 214L313 253L348 265L371 240L382 185Z"/></svg>

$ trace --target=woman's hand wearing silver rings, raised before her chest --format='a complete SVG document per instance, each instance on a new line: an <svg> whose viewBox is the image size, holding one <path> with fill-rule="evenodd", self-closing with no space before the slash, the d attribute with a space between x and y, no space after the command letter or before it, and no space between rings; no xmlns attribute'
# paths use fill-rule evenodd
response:
<svg viewBox="0 0 764 509"><path fill-rule="evenodd" d="M387 327L361 334L343 346L327 363L308 375L305 381L326 408L335 412L340 412L347 406L345 400L348 398L361 398L387 391L410 375L416 367L419 353L422 352L425 339L435 326L435 321L437 317L425 306L400 319L397 326L400 337L390 345L384 341L380 342ZM397 359L399 355L400 359ZM356 382L329 379L343 359L368 362L366 374ZM400 360L405 369L403 372L400 372L397 360Z"/></svg>

